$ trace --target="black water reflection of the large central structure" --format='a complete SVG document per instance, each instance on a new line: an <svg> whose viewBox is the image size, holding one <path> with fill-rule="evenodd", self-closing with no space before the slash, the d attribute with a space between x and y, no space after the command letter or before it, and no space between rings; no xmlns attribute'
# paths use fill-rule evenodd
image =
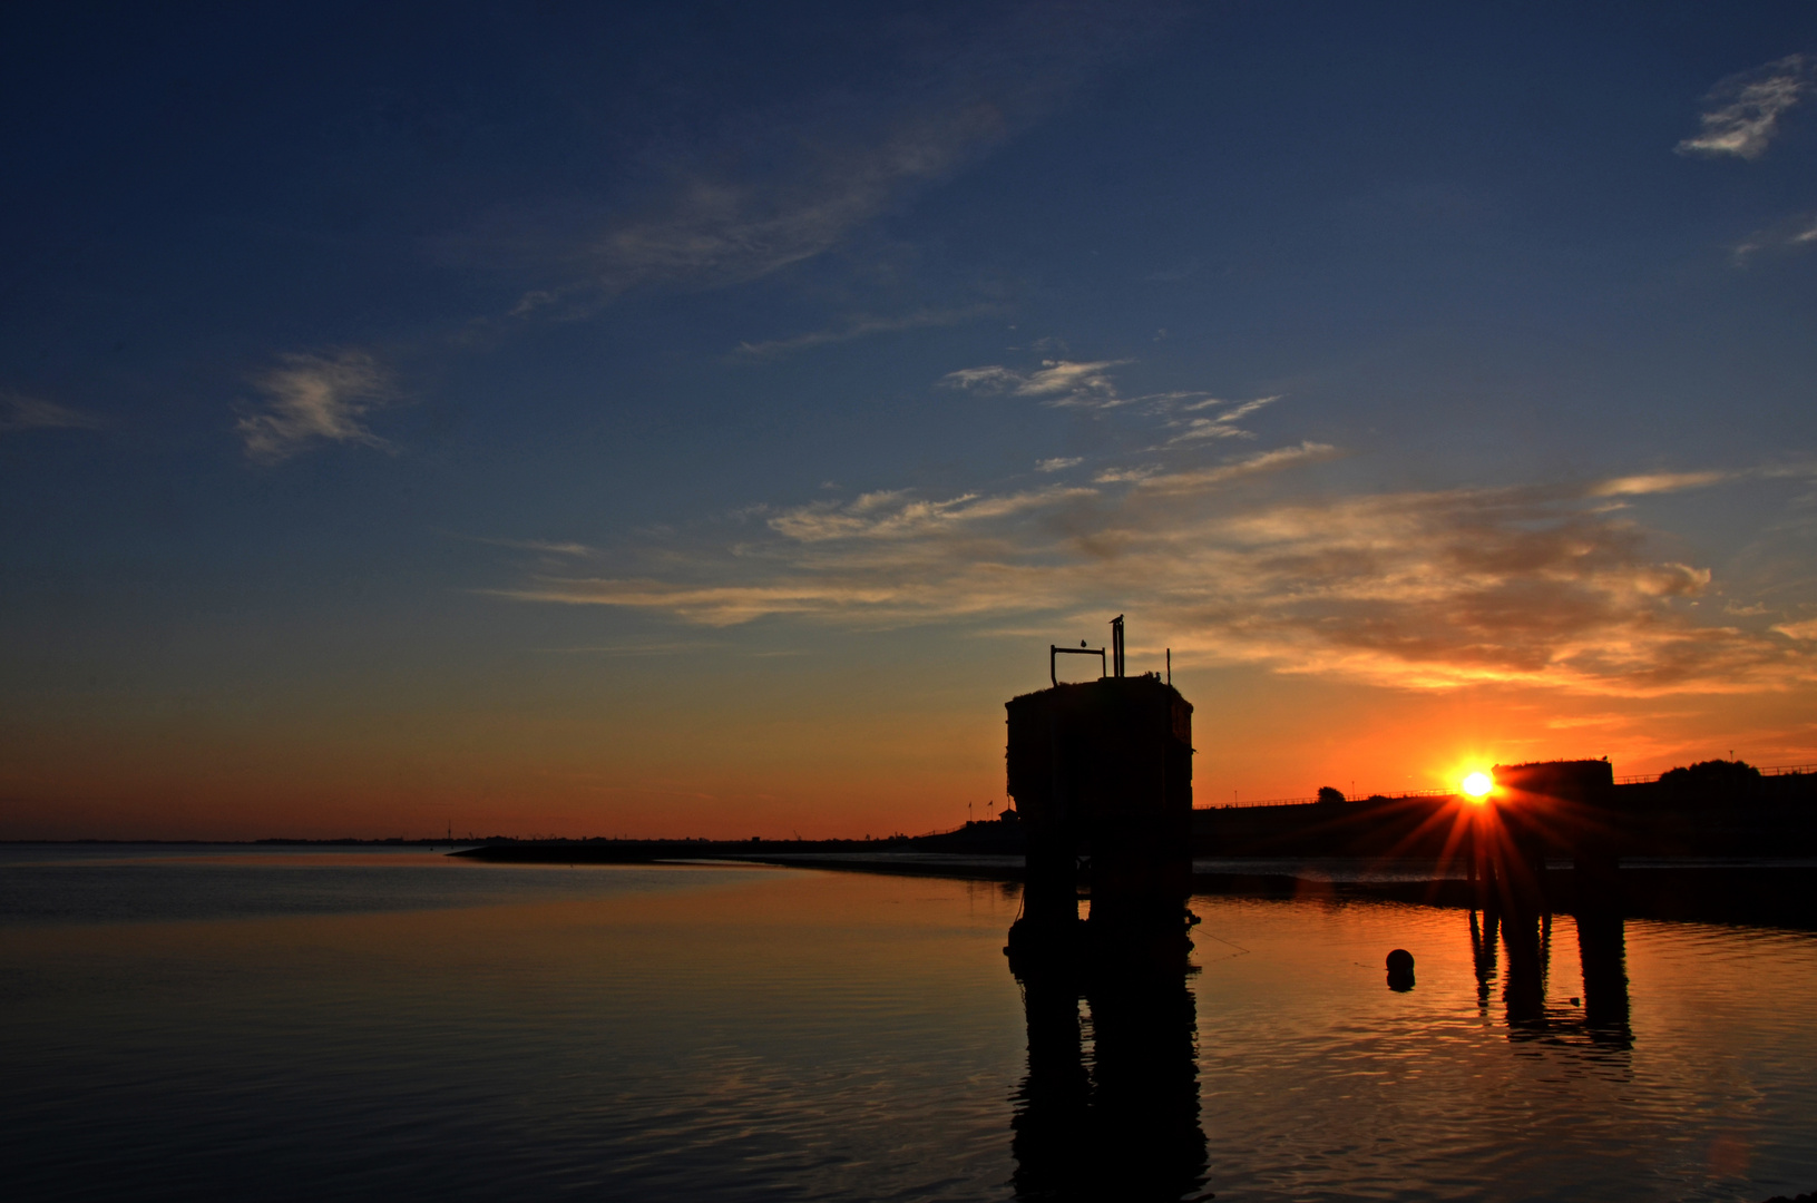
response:
<svg viewBox="0 0 1817 1203"><path fill-rule="evenodd" d="M1028 1021L1028 1076L1010 1121L1016 1198L1194 1196L1206 1150L1187 950L1018 950L1010 972Z"/></svg>

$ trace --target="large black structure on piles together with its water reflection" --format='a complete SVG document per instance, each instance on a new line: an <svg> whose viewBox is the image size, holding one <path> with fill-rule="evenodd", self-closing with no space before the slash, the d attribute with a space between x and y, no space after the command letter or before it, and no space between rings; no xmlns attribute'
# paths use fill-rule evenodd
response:
<svg viewBox="0 0 1817 1203"><path fill-rule="evenodd" d="M1156 674L1125 676L1123 618L1110 627L1105 676L1057 683L1054 656L1076 649L1054 647L1054 687L1007 705L1008 792L1028 830L1005 949L1028 1021L1012 1119L1025 1199L1174 1201L1205 1181L1187 987L1192 705Z"/></svg>

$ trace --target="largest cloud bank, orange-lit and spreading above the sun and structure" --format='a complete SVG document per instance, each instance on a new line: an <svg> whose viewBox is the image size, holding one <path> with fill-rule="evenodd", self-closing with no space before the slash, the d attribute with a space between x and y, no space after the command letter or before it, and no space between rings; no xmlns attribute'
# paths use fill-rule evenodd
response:
<svg viewBox="0 0 1817 1203"><path fill-rule="evenodd" d="M736 551L665 549L663 572L543 574L507 596L729 627L1016 621L1141 596L1176 651L1405 689L1743 692L1817 681L1810 623L1706 614L1712 571L1652 551L1610 496L1717 474L1283 500L1281 447L1096 487L919 498L870 492L769 518Z"/></svg>

